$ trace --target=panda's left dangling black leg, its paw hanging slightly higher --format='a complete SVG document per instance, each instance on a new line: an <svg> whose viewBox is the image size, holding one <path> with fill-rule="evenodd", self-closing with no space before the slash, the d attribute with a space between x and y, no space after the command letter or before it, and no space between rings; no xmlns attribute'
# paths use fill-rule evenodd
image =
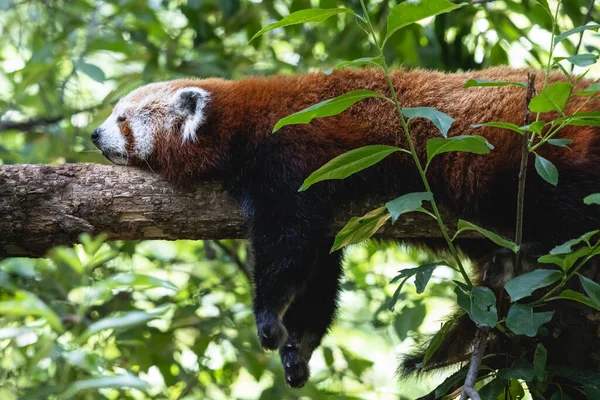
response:
<svg viewBox="0 0 600 400"><path fill-rule="evenodd" d="M323 240L322 220L305 211L314 207L312 198L301 193L283 200L285 206L267 202L257 207L251 230L254 313L260 344L268 350L287 341L289 327L282 323L283 315L314 273L317 246Z"/></svg>

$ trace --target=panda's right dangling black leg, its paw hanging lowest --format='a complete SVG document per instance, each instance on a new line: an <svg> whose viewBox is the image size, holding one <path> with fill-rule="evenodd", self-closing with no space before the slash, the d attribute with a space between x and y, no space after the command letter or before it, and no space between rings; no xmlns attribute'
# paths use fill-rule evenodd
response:
<svg viewBox="0 0 600 400"><path fill-rule="evenodd" d="M337 309L341 252L329 254L330 248L329 240L319 248L314 273L283 317L288 340L279 349L279 355L286 382L292 387L302 387L308 380L308 362Z"/></svg>

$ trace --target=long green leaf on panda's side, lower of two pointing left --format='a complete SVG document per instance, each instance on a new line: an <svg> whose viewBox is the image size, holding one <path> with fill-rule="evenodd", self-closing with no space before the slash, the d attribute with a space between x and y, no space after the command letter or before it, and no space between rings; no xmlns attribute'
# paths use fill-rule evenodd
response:
<svg viewBox="0 0 600 400"><path fill-rule="evenodd" d="M371 145L350 150L310 174L298 191L304 191L317 182L347 178L356 172L377 164L397 151L402 151L402 149L385 145Z"/></svg>

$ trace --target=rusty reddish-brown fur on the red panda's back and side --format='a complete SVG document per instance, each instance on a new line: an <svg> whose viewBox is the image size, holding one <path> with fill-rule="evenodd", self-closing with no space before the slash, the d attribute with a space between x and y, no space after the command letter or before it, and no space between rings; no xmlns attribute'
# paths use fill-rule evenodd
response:
<svg viewBox="0 0 600 400"><path fill-rule="evenodd" d="M434 107L456 119L450 136L483 135L495 146L486 156L447 153L432 164L429 170L432 184L438 190L449 190L449 197L456 206L473 199L475 193L485 191L495 173L516 171L519 164L521 141L516 133L498 128L473 129L471 125L489 121L522 125L525 103L525 90L520 87L464 89L464 83L470 78L524 82L528 72L531 70L497 67L457 74L425 70L400 70L393 74L403 107ZM536 88L540 91L543 73L537 71L536 75ZM559 72L549 77L549 83L559 80L565 80ZM579 82L575 91L590 83L589 80ZM170 132L158 140L161 145L155 166L162 168L167 176L184 181L219 166L235 133L243 132L249 135L249 140L259 141L265 135L272 135L272 127L279 119L351 90L369 89L390 96L387 83L377 70L346 69L331 75L253 77L240 81L176 80L172 85L173 91L197 86L211 93L208 121L201 127L197 143L181 146L179 137ZM575 97L568 111L575 110L582 101L583 97ZM600 102L595 101L586 109L599 109L599 105ZM541 119L549 121L555 117L548 113ZM424 160L427 140L439 136L439 131L423 119L414 120L410 129ZM293 143L288 158L290 167L307 173L344 149L368 144L408 147L393 105L381 99L360 101L338 116L316 119L309 125L287 126L275 135L286 135ZM559 170L563 166L600 161L597 151L600 139L595 128L567 127L557 137L572 139L572 151L544 146L539 153ZM302 157L298 157L299 154ZM414 171L408 156L400 163L397 168Z"/></svg>

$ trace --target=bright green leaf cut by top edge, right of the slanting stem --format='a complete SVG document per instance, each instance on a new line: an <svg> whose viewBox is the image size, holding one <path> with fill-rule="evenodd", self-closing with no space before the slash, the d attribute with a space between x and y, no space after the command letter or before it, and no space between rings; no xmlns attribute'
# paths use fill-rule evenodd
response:
<svg viewBox="0 0 600 400"><path fill-rule="evenodd" d="M422 19L447 13L462 7L463 4L452 4L447 0L415 0L398 4L388 15L385 41L398 29L414 24Z"/></svg>

